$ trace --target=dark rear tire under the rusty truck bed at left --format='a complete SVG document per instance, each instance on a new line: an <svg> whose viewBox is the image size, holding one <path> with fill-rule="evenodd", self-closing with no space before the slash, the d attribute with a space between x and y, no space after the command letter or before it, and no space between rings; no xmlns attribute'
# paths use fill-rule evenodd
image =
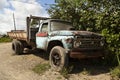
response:
<svg viewBox="0 0 120 80"><path fill-rule="evenodd" d="M23 45L20 41L13 41L12 49L17 55L20 55L23 53Z"/></svg>

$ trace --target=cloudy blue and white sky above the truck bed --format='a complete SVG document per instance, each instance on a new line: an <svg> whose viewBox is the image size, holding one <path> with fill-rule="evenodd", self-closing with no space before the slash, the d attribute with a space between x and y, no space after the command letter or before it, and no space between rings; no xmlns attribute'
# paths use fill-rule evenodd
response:
<svg viewBox="0 0 120 80"><path fill-rule="evenodd" d="M17 30L26 29L26 17L49 17L46 9L54 0L0 0L0 34L14 29L13 13Z"/></svg>

